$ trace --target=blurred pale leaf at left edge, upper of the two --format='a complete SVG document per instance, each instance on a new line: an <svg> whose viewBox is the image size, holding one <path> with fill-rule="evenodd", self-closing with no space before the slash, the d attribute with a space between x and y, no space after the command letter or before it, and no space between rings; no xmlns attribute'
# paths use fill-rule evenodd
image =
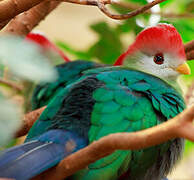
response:
<svg viewBox="0 0 194 180"><path fill-rule="evenodd" d="M20 37L2 36L0 47L0 63L19 78L31 81L55 80L56 72L34 43Z"/></svg>

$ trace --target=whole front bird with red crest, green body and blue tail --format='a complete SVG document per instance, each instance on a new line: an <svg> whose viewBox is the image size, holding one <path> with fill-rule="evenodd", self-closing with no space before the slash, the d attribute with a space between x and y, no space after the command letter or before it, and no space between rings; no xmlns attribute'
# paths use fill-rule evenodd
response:
<svg viewBox="0 0 194 180"><path fill-rule="evenodd" d="M170 24L147 27L114 66L85 70L57 92L25 143L1 152L0 177L30 179L103 136L175 117L185 109L177 83L181 74L190 74L190 68L180 34ZM117 150L67 179L162 180L183 147L184 139L175 138L145 149Z"/></svg>

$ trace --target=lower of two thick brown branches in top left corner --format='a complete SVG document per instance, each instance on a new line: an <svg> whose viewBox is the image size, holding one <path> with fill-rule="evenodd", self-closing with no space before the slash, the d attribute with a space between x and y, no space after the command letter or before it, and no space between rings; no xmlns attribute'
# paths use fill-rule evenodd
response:
<svg viewBox="0 0 194 180"><path fill-rule="evenodd" d="M30 10L16 16L3 29L3 33L26 36L35 26L39 24L60 2L43 1Z"/></svg>

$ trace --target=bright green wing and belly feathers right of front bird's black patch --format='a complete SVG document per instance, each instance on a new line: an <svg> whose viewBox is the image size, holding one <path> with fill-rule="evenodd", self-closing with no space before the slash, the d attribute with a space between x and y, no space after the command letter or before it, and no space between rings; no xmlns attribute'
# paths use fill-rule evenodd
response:
<svg viewBox="0 0 194 180"><path fill-rule="evenodd" d="M157 111L167 120L185 108L183 98L172 86L148 74L118 68L98 68L86 74L96 74L105 83L93 93L96 103L88 134L90 143L110 133L134 132L160 124ZM168 147L169 142L139 151L115 151L80 171L78 179L118 179L128 168L135 179L143 176Z"/></svg>

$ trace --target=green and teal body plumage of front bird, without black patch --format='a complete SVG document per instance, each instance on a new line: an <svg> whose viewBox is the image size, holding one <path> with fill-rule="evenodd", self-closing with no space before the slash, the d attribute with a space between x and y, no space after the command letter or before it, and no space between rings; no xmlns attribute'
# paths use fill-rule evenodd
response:
<svg viewBox="0 0 194 180"><path fill-rule="evenodd" d="M80 79L57 93L30 130L28 139L52 128L71 131L82 129L82 125L78 124L82 120L77 119L69 124L71 117L66 120L66 114L60 112L66 112L64 103L68 102L68 97L76 99L71 94L74 89L78 85L79 89L89 86L85 82L90 78L96 79L98 87L92 90L92 96L88 97L93 102L89 116L85 117L89 124L84 131L87 131L89 143L110 133L135 132L155 126L173 118L185 108L182 96L171 85L157 77L127 68L97 68L86 71ZM80 103L80 108L81 106ZM61 119L56 123L54 121L59 114ZM176 152L171 152L173 142L177 146ZM182 146L177 144L181 144L181 140L175 139L139 151L118 150L90 164L70 179L113 180L122 176L123 179L130 180L159 180L166 176L180 155Z"/></svg>

